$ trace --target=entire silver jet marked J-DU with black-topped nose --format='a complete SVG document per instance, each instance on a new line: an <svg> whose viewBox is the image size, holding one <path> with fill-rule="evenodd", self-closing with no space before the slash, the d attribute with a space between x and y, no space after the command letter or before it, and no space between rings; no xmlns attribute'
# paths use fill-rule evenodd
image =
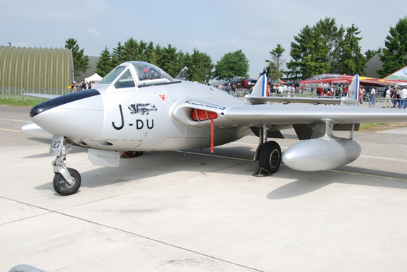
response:
<svg viewBox="0 0 407 272"><path fill-rule="evenodd" d="M349 94L358 99L358 76ZM359 157L352 140L362 122L406 122L407 111L358 108L351 97L341 99L267 97L263 73L244 102L210 85L173 79L142 61L117 66L93 89L55 97L30 110L34 123L22 127L32 136L52 137L53 186L61 195L75 194L81 175L66 167L69 145L88 148L95 165L119 166L123 151L189 150L236 141L251 131L259 136L254 175L275 173L281 160L295 170L319 171L346 165ZM33 95L43 97L44 95ZM54 95L46 95L52 98ZM269 101L315 105L271 105ZM316 105L321 104L339 105ZM300 140L281 153L281 129L293 127ZM334 130L350 131L349 138ZM139 170L142 171L142 170Z"/></svg>

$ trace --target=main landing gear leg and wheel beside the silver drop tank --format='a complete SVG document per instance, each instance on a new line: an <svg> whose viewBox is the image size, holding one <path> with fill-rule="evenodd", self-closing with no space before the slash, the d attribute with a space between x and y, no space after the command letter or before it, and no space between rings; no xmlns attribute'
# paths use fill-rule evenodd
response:
<svg viewBox="0 0 407 272"><path fill-rule="evenodd" d="M254 160L259 161L259 167L253 173L254 177L266 177L277 172L281 165L281 147L275 141L267 141L267 126L260 128L259 146Z"/></svg>

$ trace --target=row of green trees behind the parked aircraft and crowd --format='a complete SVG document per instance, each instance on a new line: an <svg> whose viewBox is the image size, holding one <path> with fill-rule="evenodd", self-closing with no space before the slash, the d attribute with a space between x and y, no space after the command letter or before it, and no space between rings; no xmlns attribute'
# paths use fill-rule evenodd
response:
<svg viewBox="0 0 407 272"><path fill-rule="evenodd" d="M360 30L354 24L344 28L337 25L335 18L321 19L313 26L306 25L291 42L290 61L285 61L285 49L280 44L270 51L271 59L265 59L265 66L269 66L269 78L273 81L293 81L320 73L363 75L367 61L375 54L379 54L383 63L382 69L377 71L379 77L407 66L407 17L400 19L395 27L390 27L383 48L369 49L362 54L360 40ZM66 40L65 48L72 49L76 75L89 69L88 56L83 54L76 40ZM172 45L162 47L133 38L123 44L118 42L112 52L105 47L100 53L95 72L105 76L115 66L133 60L155 64L172 77L187 66L187 80L201 83L213 78L228 81L235 76L247 77L249 73L249 61L242 50L226 53L213 64L208 54L196 48L192 53L182 52Z"/></svg>

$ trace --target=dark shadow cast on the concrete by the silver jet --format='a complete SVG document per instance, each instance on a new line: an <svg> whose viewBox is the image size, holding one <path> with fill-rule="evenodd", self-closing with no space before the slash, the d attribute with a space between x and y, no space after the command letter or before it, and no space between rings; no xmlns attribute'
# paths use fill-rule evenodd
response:
<svg viewBox="0 0 407 272"><path fill-rule="evenodd" d="M247 149L251 148L223 148L222 152L216 152L216 154L219 155L220 153L220 156L223 156L230 150L230 153L234 154L249 153L249 155L252 155L253 152L248 152ZM70 151L70 153L80 152L83 152L83 148L75 147ZM89 170L87 172L81 172L80 169L78 170L82 176L82 187L88 188L137 182L141 179L158 176L163 176L164 183L165 179L167 179L165 175L178 171L196 172L196 175L202 175L205 172L216 172L225 175L234 174L247 176L252 175L254 170L256 170L256 162L247 160L247 158L242 160L225 158L225 156L221 158L211 158L210 154L207 153L208 150L203 150L202 152L203 155L187 153L187 155L184 156L182 152L155 151L144 153L144 155L137 158L122 159L119 167L98 167L98 169ZM45 156L45 154L38 156ZM30 156L30 158L35 158L35 156ZM72 165L67 165L67 167L72 167ZM405 175L350 166L340 167L333 171L300 172L292 170L282 164L276 174L269 177L255 177L254 182L257 179L262 181L263 179L268 179L270 184L272 184L274 177L278 179L295 179L295 181L284 184L272 191L265 192L267 199L277 200L301 196L322 189L333 183L407 189L407 182L403 182ZM172 179L174 179L174 177L172 177ZM155 184L157 183L155 182ZM232 181L230 186L233 186ZM252 183L252 186L256 186L256 183ZM52 179L35 189L52 190Z"/></svg>

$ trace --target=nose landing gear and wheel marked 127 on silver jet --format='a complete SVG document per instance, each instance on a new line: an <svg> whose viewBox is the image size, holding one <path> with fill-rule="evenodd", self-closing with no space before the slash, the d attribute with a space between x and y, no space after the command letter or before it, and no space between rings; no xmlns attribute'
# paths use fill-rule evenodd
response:
<svg viewBox="0 0 407 272"><path fill-rule="evenodd" d="M52 138L50 153L57 155L57 158L52 161L55 173L52 185L54 190L62 196L75 194L79 187L81 187L81 175L79 172L65 166L67 150L64 137L54 136Z"/></svg>

